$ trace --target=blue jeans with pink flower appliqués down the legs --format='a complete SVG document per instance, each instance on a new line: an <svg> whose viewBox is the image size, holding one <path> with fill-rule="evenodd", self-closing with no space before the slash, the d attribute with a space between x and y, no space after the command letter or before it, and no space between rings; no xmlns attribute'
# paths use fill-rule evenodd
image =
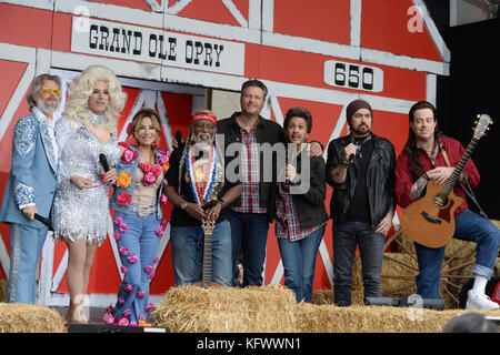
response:
<svg viewBox="0 0 500 355"><path fill-rule="evenodd" d="M116 222L120 216L127 225L124 232L120 232L120 226ZM153 262L161 237L157 233L160 224L156 213L141 217L136 212L128 214L114 212L113 227L114 233L121 234L117 244L123 265L122 272L126 271L113 310L117 323L123 317L132 325L137 325L139 321L147 321L149 284L154 275ZM122 322L127 324L127 321Z"/></svg>

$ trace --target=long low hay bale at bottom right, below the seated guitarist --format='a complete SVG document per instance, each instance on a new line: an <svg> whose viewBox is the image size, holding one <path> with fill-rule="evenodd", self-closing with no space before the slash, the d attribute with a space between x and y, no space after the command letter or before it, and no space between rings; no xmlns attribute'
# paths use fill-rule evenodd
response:
<svg viewBox="0 0 500 355"><path fill-rule="evenodd" d="M296 310L297 328L304 333L441 333L449 320L471 312L306 303L298 304ZM473 312L500 316L499 310Z"/></svg>

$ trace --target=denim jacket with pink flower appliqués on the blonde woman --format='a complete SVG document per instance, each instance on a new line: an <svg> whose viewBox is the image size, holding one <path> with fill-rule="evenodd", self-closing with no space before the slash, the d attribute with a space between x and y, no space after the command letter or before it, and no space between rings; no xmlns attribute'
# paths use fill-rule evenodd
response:
<svg viewBox="0 0 500 355"><path fill-rule="evenodd" d="M161 149L156 150L154 152L154 163L160 164L159 160L161 161L167 160L162 156L167 156L169 158L169 152L166 152ZM167 163L168 164L168 163ZM130 212L130 201L133 196L133 186L136 184L136 172L137 172L137 168L139 165L139 153L137 151L137 148L134 145L129 145L122 153L121 155L121 160L118 163L118 165L116 166L117 169L117 173L120 175L120 173L129 173L131 176L131 182L130 184L127 185L127 187L121 187L119 184L117 184L114 186L114 191L113 194L111 196L111 201L110 201L110 207L113 209L114 211L121 212L121 213L129 213ZM160 164L161 165L161 164ZM160 187L157 191L157 217L159 220L161 220L162 217L162 211L161 211L161 194L163 193L163 186L166 183L166 173L164 173L166 169L161 170L161 175L163 176L163 180L161 182ZM130 196L129 202L128 203L119 203L119 200L124 200L127 201L127 199L123 199L123 196L128 194ZM119 199L119 197L122 199Z"/></svg>

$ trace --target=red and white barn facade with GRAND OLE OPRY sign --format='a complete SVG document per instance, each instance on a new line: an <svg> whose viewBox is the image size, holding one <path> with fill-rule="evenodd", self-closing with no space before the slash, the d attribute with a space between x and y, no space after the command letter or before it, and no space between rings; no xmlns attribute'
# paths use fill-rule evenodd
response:
<svg viewBox="0 0 500 355"><path fill-rule="evenodd" d="M206 89L236 92L248 78L258 78L269 88L264 118L282 123L289 108L306 106L313 115L310 139L327 146L347 132L346 105L362 98L374 110L373 132L390 139L399 153L409 108L419 100L436 101L437 75L449 75L449 62L422 0L0 1L0 194L10 170L13 126L28 112L26 94L33 78L43 72L59 74L67 93L88 65L111 68L128 95L121 138L138 109L154 106L169 149L172 132L186 134L189 115L206 104ZM330 195L331 189L327 205ZM7 278L7 225L0 225L0 278ZM169 227L158 255L153 303L173 285ZM39 303L68 304L67 257L66 246L48 237ZM271 227L266 283L280 283L282 275ZM121 277L111 237L97 252L88 303L113 303ZM314 287L329 288L331 277L330 221Z"/></svg>

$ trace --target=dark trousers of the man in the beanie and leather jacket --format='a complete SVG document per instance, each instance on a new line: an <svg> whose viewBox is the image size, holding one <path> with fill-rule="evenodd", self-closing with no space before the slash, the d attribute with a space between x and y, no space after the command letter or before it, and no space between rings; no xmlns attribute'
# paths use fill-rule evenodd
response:
<svg viewBox="0 0 500 355"><path fill-rule="evenodd" d="M333 224L333 302L351 305L352 264L359 245L363 296L380 297L380 274L386 237L373 232L369 223L344 222Z"/></svg>

